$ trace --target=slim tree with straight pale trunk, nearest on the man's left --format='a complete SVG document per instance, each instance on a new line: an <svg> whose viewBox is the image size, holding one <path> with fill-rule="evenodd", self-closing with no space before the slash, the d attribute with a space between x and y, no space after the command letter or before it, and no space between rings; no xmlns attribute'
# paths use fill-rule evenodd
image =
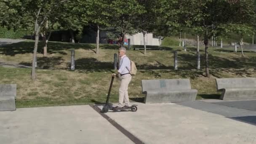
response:
<svg viewBox="0 0 256 144"><path fill-rule="evenodd" d="M109 26L109 17L111 16L109 11L110 0L87 0L83 2L86 7L86 13L89 21L96 27L97 37L97 51L99 54L99 37L100 27Z"/></svg>

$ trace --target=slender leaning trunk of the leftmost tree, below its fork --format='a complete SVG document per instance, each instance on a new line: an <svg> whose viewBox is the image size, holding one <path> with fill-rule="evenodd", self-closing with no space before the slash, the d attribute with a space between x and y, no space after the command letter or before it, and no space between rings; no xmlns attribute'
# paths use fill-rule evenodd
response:
<svg viewBox="0 0 256 144"><path fill-rule="evenodd" d="M37 46L39 41L39 30L35 33L35 47L34 47L34 53L33 53L33 61L32 61L32 71L31 71L31 78L32 80L36 80L37 75L35 72L35 62L37 59Z"/></svg>

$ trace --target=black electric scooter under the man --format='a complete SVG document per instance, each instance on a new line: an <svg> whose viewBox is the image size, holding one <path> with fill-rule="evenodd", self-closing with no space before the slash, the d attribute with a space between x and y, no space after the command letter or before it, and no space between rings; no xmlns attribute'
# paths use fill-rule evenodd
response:
<svg viewBox="0 0 256 144"><path fill-rule="evenodd" d="M106 100L106 103L105 105L103 106L101 112L102 113L106 113L108 112L109 110L113 110L113 111L122 111L122 110L129 110L131 109L132 112L136 112L137 111L137 105L132 105L131 107L127 107L127 108L120 108L120 109L113 109L112 105L109 104L109 96L110 96L110 93L111 93L111 89L112 89L112 85L113 85L113 81L114 81L114 78L115 76L112 75L112 79L111 79L111 83L110 83L110 86L109 86L109 93L107 94L107 100Z"/></svg>

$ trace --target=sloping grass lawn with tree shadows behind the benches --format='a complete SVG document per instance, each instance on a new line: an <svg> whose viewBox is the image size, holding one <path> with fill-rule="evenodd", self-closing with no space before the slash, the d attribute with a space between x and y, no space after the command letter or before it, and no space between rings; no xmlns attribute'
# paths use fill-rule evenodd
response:
<svg viewBox="0 0 256 144"><path fill-rule="evenodd" d="M0 48L0 60L31 65L33 41L24 41ZM117 45L100 45L100 54L95 54L95 44L48 44L48 57L43 57L39 45L37 80L30 79L30 69L0 67L0 83L17 84L17 107L42 107L73 104L104 103L114 72L113 56ZM204 51L201 51L202 70L196 70L196 48L187 52L181 47L165 47L168 51L128 51L127 55L139 69L129 85L132 101L143 101L142 79L190 78L192 88L198 90L197 99L218 99L215 78L256 77L256 53L246 52L245 57L232 49L209 49L211 77L204 73ZM76 70L69 71L70 50L75 49ZM173 51L178 51L178 68L173 70ZM115 80L110 97L117 102L119 81Z"/></svg>

